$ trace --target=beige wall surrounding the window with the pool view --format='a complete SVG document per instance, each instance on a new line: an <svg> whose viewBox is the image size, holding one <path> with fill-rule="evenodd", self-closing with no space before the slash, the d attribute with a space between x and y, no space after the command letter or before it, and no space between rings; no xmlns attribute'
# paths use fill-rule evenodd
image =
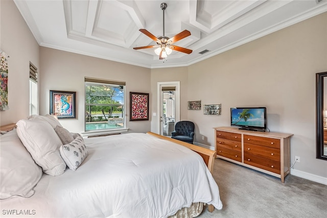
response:
<svg viewBox="0 0 327 218"><path fill-rule="evenodd" d="M150 120L129 121L129 92L150 92L150 69L46 47L40 47L40 63L41 115L50 112L50 90L76 91L77 118L60 119L60 123L71 132L84 132L84 77L124 81L126 82L126 125L129 132L150 131ZM151 98L150 94L150 103Z"/></svg>

